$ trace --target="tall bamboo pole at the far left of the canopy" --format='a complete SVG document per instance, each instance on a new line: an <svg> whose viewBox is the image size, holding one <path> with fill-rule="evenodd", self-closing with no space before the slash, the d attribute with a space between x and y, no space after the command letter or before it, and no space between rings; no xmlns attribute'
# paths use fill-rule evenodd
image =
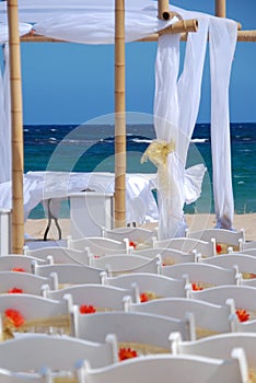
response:
<svg viewBox="0 0 256 383"><path fill-rule="evenodd" d="M12 253L22 254L24 245L24 155L18 0L8 0L8 24L12 124Z"/></svg>

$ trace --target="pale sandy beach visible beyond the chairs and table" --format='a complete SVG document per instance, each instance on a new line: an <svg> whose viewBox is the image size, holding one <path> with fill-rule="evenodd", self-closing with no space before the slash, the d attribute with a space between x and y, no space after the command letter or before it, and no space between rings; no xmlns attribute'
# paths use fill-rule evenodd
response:
<svg viewBox="0 0 256 383"><path fill-rule="evenodd" d="M186 220L190 230L214 228L216 225L214 214L187 214ZM25 223L26 235L36 240L43 240L47 222L47 219L28 219ZM70 235L70 220L60 219L58 220L58 223L61 229L62 239L66 239L68 235ZM158 223L152 222L146 224L144 227L152 228L155 225L158 225ZM235 214L233 227L237 231L240 229L245 230L246 241L256 241L256 213ZM47 239L58 239L58 232L54 221L51 223Z"/></svg>

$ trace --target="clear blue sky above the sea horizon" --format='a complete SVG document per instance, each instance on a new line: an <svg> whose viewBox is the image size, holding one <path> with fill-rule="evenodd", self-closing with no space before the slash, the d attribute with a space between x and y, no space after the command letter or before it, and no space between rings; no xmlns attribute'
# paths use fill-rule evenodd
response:
<svg viewBox="0 0 256 383"><path fill-rule="evenodd" d="M128 1L128 0L127 0ZM175 5L213 14L214 0L176 0ZM226 0L226 16L256 28L256 1ZM185 43L182 43L183 49ZM126 47L126 109L152 114L156 43ZM256 43L237 43L233 61L231 121L256 121ZM24 124L82 124L114 113L114 47L23 43ZM198 123L210 120L209 62Z"/></svg>

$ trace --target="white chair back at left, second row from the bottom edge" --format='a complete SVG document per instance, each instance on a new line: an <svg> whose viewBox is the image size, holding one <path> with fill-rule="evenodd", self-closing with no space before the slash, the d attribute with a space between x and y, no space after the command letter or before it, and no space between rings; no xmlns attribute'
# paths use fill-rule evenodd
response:
<svg viewBox="0 0 256 383"><path fill-rule="evenodd" d="M100 368L118 361L114 336L102 344L69 336L27 334L0 343L1 368L13 372L72 371L78 361L86 358L92 367Z"/></svg>

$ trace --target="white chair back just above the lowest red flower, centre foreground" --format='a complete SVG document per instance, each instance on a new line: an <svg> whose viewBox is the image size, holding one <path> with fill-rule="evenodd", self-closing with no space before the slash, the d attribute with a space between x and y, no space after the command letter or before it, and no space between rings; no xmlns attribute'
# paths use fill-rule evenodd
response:
<svg viewBox="0 0 256 383"><path fill-rule="evenodd" d="M195 339L195 327L190 315L183 320L144 313L118 311L81 314L73 306L74 337L103 343L108 334L117 338L118 347L133 347L142 353L170 352L168 336L181 332L184 339ZM129 346L130 345L130 346Z"/></svg>

